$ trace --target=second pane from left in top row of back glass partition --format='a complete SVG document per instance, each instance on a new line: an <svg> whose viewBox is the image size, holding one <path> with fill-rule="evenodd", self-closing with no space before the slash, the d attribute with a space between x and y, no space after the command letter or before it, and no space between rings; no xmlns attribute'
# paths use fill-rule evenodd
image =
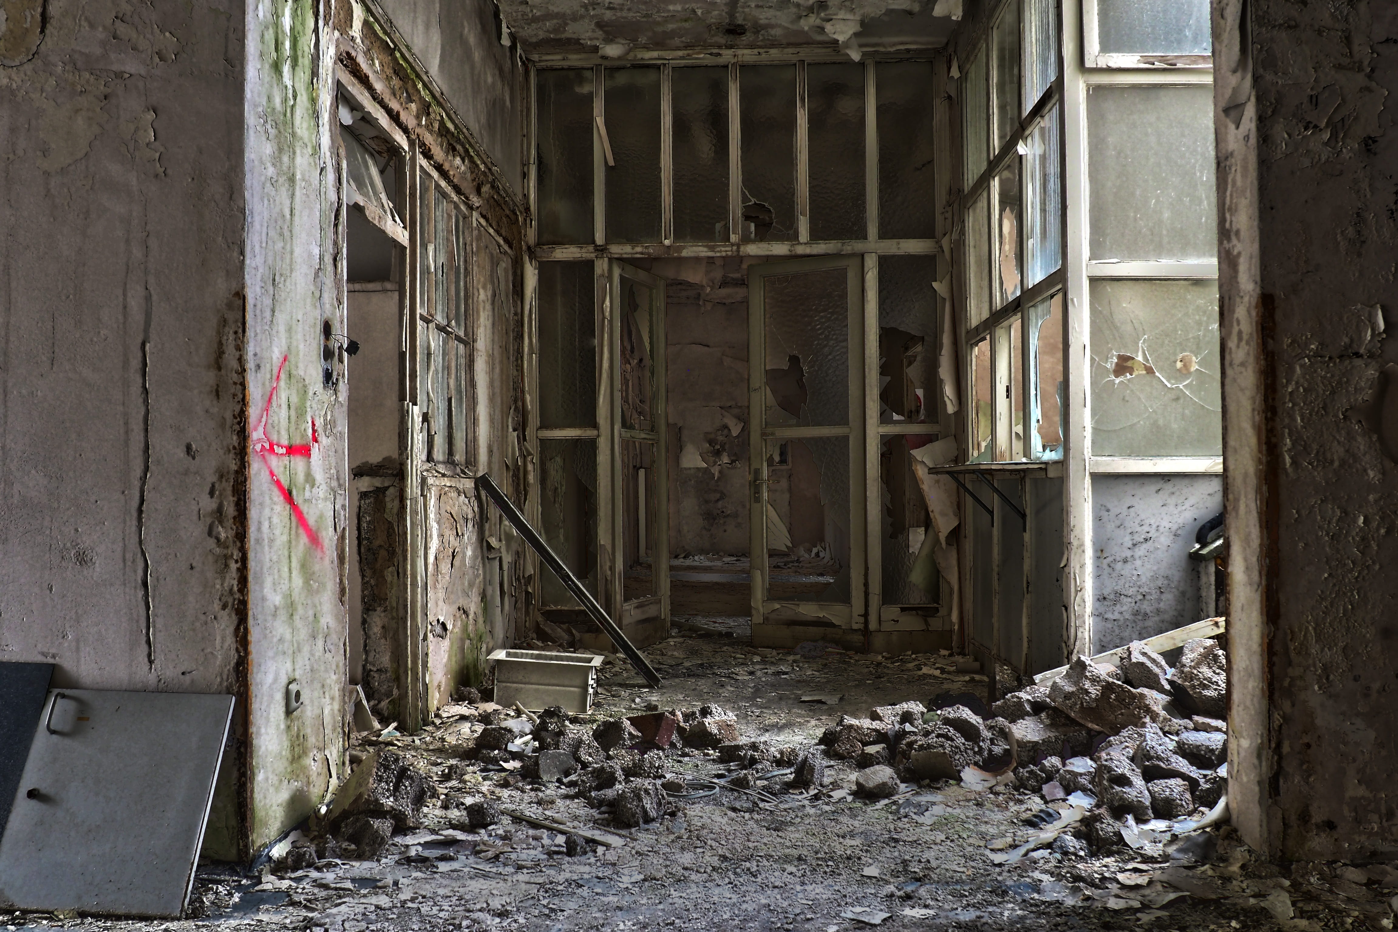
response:
<svg viewBox="0 0 1398 932"><path fill-rule="evenodd" d="M660 68L603 71L607 140L607 242L660 242Z"/></svg>

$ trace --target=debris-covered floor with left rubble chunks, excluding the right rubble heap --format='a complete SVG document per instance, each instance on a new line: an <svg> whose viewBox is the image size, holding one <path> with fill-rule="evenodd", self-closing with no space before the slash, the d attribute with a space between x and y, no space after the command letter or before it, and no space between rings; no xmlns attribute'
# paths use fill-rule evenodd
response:
<svg viewBox="0 0 1398 932"><path fill-rule="evenodd" d="M955 657L870 657L819 646L756 650L735 637L686 632L646 653L664 675L660 689L610 658L593 713L566 725L545 714L537 725L528 722L534 735L524 734L517 713L493 703L450 706L415 736L362 735L356 759L368 756L382 767L398 755L394 766L405 774L394 789L403 798L386 803L401 805L394 816L400 824L376 859L356 859L358 850L334 840L327 847L322 838L319 850L298 841L282 845L282 859L260 873L203 866L193 898L199 918L15 914L8 928L1392 928L1392 891L1385 887L1398 886L1398 872L1255 864L1226 826L1186 836L1183 845L1169 843L1173 861L1146 831L1132 837L1138 848L1121 845L1103 857L1065 831L1058 844L997 864L1046 827L1069 820L1069 801L1048 803L1019 788L1014 774L977 771L965 781L893 777L891 785L861 788L858 764L877 764L886 748L871 745L858 750L860 759L840 760L830 756L833 748L816 743L822 735L835 738L825 732L840 715L867 720L875 707L905 701L946 707L949 694L959 694L955 704L984 713L986 678L958 672ZM679 721L688 741L646 755L625 750L637 735L615 720L654 710L688 710ZM882 711L885 718L900 714ZM622 742L610 763L591 738L605 721L614 724L598 732L601 743ZM737 742L726 731L733 725ZM911 736L917 727L907 729ZM496 741L500 734L507 741ZM703 742L727 746L695 746ZM558 752L534 756L549 746L598 763L545 784L528 774L556 777ZM624 802L617 787L608 789L597 777L615 774L614 764L663 778L665 792L658 801L642 794ZM818 785L821 774L812 770L822 767ZM414 773L425 780L414 782ZM875 777L881 773L892 771ZM713 782L730 776L744 788ZM909 776L906 762L902 776ZM647 782L617 777L622 789ZM643 820L647 806L660 817L619 824ZM478 826L495 817L495 824ZM327 813L333 819L334 809ZM334 834L372 848L382 841L373 838L375 824L390 823L359 817L358 824L341 822Z"/></svg>

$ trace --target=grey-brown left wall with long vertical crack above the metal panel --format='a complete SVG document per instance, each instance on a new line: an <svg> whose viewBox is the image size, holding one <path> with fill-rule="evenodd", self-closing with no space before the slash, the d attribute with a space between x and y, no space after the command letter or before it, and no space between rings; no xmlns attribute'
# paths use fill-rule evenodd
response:
<svg viewBox="0 0 1398 932"><path fill-rule="evenodd" d="M6 3L0 660L233 693L206 848L236 855L247 423L242 4Z"/></svg>

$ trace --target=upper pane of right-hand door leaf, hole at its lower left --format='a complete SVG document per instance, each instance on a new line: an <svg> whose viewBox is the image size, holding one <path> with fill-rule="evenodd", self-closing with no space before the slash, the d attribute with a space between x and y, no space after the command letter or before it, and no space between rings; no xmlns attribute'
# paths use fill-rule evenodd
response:
<svg viewBox="0 0 1398 932"><path fill-rule="evenodd" d="M850 422L850 296L844 268L763 282L768 425Z"/></svg>

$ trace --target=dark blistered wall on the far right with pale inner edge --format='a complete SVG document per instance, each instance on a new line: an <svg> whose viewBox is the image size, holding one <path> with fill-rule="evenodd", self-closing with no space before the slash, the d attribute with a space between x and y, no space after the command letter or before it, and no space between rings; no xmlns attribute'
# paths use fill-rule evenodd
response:
<svg viewBox="0 0 1398 932"><path fill-rule="evenodd" d="M1230 799L1296 859L1398 854L1398 8L1216 0Z"/></svg>

